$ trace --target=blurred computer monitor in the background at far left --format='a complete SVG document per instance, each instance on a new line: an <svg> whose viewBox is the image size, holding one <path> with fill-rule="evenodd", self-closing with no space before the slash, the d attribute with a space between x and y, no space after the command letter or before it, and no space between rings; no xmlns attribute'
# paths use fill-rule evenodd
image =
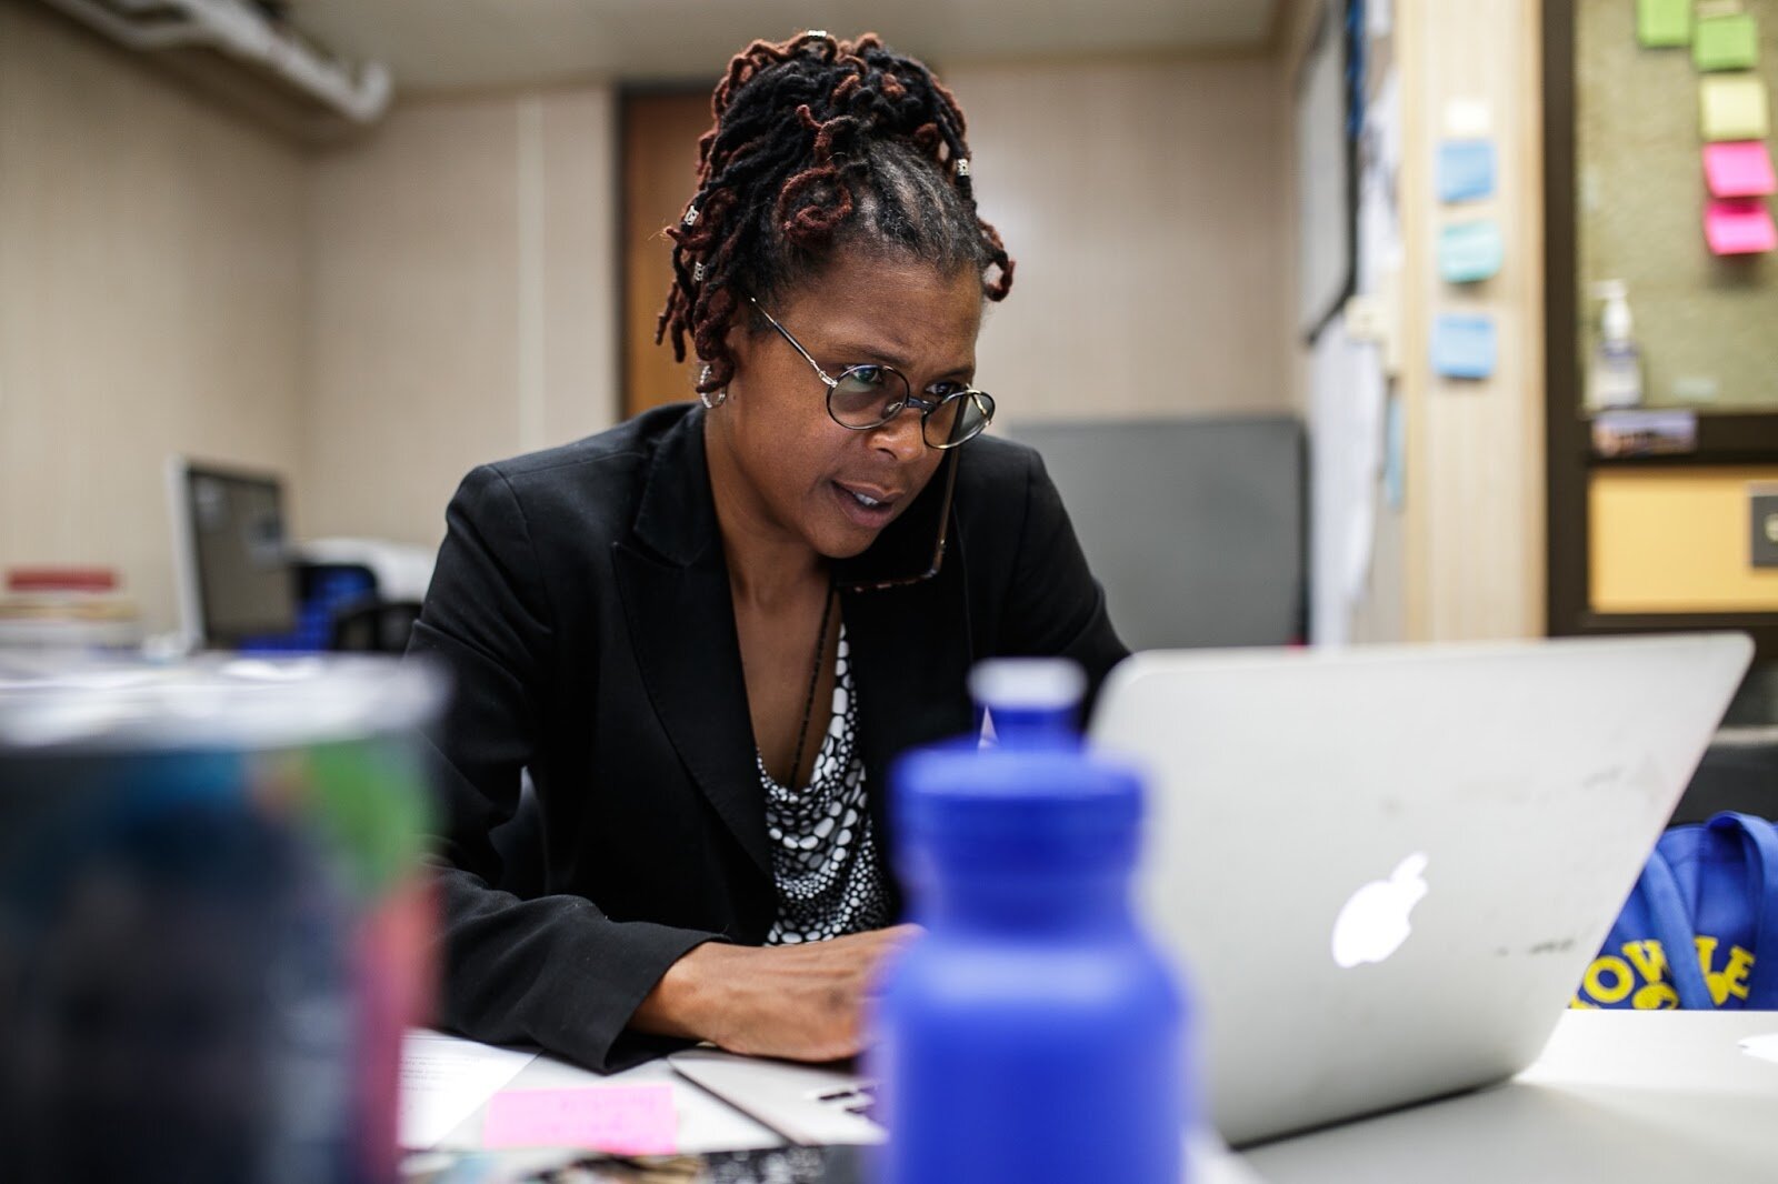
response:
<svg viewBox="0 0 1778 1184"><path fill-rule="evenodd" d="M295 569L277 475L172 457L167 491L185 642L231 649L290 633Z"/></svg>

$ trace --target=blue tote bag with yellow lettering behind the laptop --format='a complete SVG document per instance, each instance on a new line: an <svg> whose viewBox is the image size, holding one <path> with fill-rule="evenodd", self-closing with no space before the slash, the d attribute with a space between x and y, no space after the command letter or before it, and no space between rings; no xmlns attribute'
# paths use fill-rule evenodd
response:
<svg viewBox="0 0 1778 1184"><path fill-rule="evenodd" d="M1572 1006L1778 1008L1778 828L1718 814L1661 836Z"/></svg>

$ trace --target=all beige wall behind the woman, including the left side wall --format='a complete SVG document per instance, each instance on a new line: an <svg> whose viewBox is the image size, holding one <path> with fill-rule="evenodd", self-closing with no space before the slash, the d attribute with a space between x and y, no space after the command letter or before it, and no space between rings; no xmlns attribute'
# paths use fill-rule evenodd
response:
<svg viewBox="0 0 1778 1184"><path fill-rule="evenodd" d="M1006 423L1293 407L1273 59L946 76L1019 260ZM304 153L0 4L0 565L119 565L165 628L167 452L284 473L299 537L430 548L468 468L613 423L615 103L414 101Z"/></svg>

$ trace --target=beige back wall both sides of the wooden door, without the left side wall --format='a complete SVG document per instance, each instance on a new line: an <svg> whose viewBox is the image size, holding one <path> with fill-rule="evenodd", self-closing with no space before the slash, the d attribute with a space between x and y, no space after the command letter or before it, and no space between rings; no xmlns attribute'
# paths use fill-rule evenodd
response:
<svg viewBox="0 0 1778 1184"><path fill-rule="evenodd" d="M1005 423L1293 405L1269 59L944 73L1019 260ZM432 544L471 464L615 421L615 162L596 87L405 105L318 162L311 533Z"/></svg>

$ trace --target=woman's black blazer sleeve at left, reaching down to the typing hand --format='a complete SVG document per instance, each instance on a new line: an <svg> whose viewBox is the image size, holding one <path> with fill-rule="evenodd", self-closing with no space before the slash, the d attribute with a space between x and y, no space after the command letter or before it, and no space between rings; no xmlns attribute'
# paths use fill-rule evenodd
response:
<svg viewBox="0 0 1778 1184"><path fill-rule="evenodd" d="M501 860L489 832L517 811L548 711L555 638L542 571L509 480L489 466L473 471L446 510L407 651L453 690L428 731L443 814L439 1020L613 1072L674 1047L626 1024L667 967L717 935L615 923L581 896L523 900L496 887Z"/></svg>

